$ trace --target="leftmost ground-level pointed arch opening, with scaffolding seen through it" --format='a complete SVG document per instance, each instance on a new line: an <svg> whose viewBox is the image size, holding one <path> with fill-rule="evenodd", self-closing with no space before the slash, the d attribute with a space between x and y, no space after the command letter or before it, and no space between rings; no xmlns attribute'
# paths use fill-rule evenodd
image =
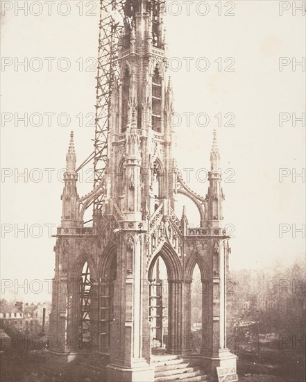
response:
<svg viewBox="0 0 306 382"><path fill-rule="evenodd" d="M85 261L80 276L80 347L91 341L91 288L90 267Z"/></svg>

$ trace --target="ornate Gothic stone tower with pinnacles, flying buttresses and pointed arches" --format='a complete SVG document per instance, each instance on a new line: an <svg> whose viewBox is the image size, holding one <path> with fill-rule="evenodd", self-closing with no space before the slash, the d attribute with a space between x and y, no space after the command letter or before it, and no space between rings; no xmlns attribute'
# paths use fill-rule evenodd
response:
<svg viewBox="0 0 306 382"><path fill-rule="evenodd" d="M125 13L108 165L102 183L82 198L76 190L71 134L56 235L51 354L62 364L79 354L99 354L107 364L108 381L153 381L151 301L160 297L154 269L162 258L169 285L168 326L167 336L155 335L167 353L191 353L191 283L198 265L205 338L201 363L215 375L216 366L236 362L226 348L224 285L230 247L221 228L224 196L216 133L210 187L201 197L182 181L172 157L173 90L166 79L164 1L126 1ZM176 216L178 193L196 204L198 229L189 228L185 209L181 219ZM101 195L103 208L94 211L92 227L85 227L85 210Z"/></svg>

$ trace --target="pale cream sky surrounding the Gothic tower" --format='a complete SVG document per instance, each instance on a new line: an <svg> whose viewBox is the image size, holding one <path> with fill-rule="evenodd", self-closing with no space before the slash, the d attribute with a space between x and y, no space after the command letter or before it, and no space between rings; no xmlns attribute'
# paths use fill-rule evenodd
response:
<svg viewBox="0 0 306 382"><path fill-rule="evenodd" d="M176 128L178 167L185 178L184 169L194 169L189 185L205 196L207 182L198 181L195 174L210 166L212 130L216 128L221 167L227 171L223 178L233 181L223 183L223 215L226 223L235 226L230 267L289 265L296 256L305 254L302 233L296 232L296 238L292 234L293 224L301 229L305 222L305 177L292 177L303 168L305 174L305 125L297 121L294 127L291 122L292 113L296 117L305 113L305 66L303 71L300 66L292 69L294 60L298 63L305 57L305 18L298 10L292 15L291 8L280 16L278 1L243 0L229 2L235 5L232 10L224 6L220 10L216 1L206 1L209 11L204 4L198 7L198 13L202 13L199 15L196 4L200 2L189 2L190 15L188 7L180 2L182 11L176 15L178 1L168 1L172 4L166 17L172 58L168 73L173 81L176 113L181 118ZM25 279L28 283L39 279L44 290L37 295L29 293L25 299L41 301L51 299L44 280L53 277L56 239L49 238L47 225L53 224L54 234L60 224L63 183L58 178L65 167L71 129L75 133L78 164L93 150L94 126L90 117L94 113L96 72L85 68L95 67L92 58L97 55L99 12L98 7L94 9L97 1L83 1L83 16L79 15L79 1L67 1L71 8L67 16L60 15L56 6L49 16L46 4L41 8L42 14L35 16L31 13L38 13L39 8L31 8L29 1L28 15L24 16L14 3L1 20L1 278L17 279L20 284ZM226 10L235 15L224 16ZM59 11L65 13L66 8L62 6ZM86 12L95 15L86 16ZM46 57L55 58L49 59L50 72ZM280 57L290 63L282 72ZM28 70L24 71L21 65L15 70L24 58L28 60ZM235 72L225 72L233 59ZM178 61L181 67L177 70ZM210 67L204 72L201 69L207 61ZM58 65L65 69L67 62L71 65L68 71L58 69ZM3 67L3 63L8 66ZM12 121L3 120L10 118L10 114L4 117L3 113L11 113ZM24 113L28 113L28 126L17 122ZM43 116L41 126L31 126L39 124L33 113ZM51 126L44 113L56 113ZM69 126L58 124L60 113L69 114ZM186 113L193 113L190 126ZM208 126L203 126L203 117L196 118L200 113L209 115ZM219 113L223 116L221 127L214 117ZM226 113L235 115L235 126L224 126L224 122L229 122L229 115L224 119ZM291 117L282 127L279 113L289 113ZM62 117L60 124L65 122ZM282 168L287 169L283 172L288 176L280 182ZM26 181L22 177L15 179L24 169L28 172ZM80 196L92 189L90 179L90 170L87 174L84 170L78 187ZM178 216L182 203L189 211L189 222L196 224L198 217L189 201L178 202ZM17 229L25 224L28 238L24 238L24 233L17 234ZM287 224L290 229L282 238L279 224ZM10 229L11 232L3 232ZM35 235L40 237L34 238ZM39 288L37 285L32 289Z"/></svg>

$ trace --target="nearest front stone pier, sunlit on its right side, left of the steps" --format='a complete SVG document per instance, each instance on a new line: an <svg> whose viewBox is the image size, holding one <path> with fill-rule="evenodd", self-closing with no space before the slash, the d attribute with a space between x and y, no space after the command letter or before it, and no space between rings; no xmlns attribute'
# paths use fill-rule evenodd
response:
<svg viewBox="0 0 306 382"><path fill-rule="evenodd" d="M153 367L144 358L143 347L149 346L144 338L143 277L144 258L136 223L127 222L121 232L117 251L117 279L114 282L114 320L111 325L110 365L107 381L153 381ZM147 313L146 313L147 315ZM145 345L144 345L145 344ZM147 354L147 351L146 351Z"/></svg>

